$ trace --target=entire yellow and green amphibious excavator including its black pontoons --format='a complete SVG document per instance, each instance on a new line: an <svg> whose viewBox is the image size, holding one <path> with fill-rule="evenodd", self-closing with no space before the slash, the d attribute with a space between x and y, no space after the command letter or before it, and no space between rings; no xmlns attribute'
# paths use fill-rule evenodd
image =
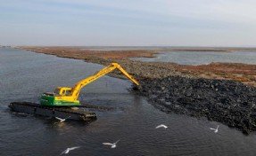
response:
<svg viewBox="0 0 256 156"><path fill-rule="evenodd" d="M122 74L125 74L129 80L139 85L139 83L128 74L118 63L111 63L105 66L99 72L87 77L86 79L70 87L56 87L54 92L45 92L40 98L40 104L30 102L12 102L9 107L14 112L32 113L50 117L62 117L77 121L88 121L96 117L95 113L85 112L71 107L87 107L81 105L78 101L80 90L90 82L94 82L105 74L110 73L114 69L119 69Z"/></svg>

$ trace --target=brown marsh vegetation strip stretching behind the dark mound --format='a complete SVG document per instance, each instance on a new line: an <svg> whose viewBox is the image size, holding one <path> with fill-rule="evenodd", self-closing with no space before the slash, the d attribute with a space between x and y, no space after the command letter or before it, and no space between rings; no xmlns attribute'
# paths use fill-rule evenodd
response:
<svg viewBox="0 0 256 156"><path fill-rule="evenodd" d="M163 50L134 51L90 51L78 47L17 47L19 49L55 55L62 58L85 59L88 62L107 65L118 62L128 73L141 79L163 78L170 75L202 77L209 79L228 79L256 86L256 65L238 63L211 63L200 66L181 66L173 63L140 62L128 58L152 58ZM172 51L192 51L189 49L172 49ZM193 51L206 51L203 49ZM208 50L209 51L209 50ZM211 51L232 51L231 49L212 49ZM242 51L242 50L241 50Z"/></svg>

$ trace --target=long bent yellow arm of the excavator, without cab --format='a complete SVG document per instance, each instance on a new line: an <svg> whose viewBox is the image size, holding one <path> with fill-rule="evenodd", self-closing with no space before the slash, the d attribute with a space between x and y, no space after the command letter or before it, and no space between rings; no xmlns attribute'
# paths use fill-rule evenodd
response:
<svg viewBox="0 0 256 156"><path fill-rule="evenodd" d="M116 68L118 68L122 74L125 74L128 77L128 79L136 83L136 85L139 85L139 83L130 74L128 74L118 63L111 63L111 65L104 67L102 70L100 70L96 74L93 74L90 77L87 77L86 79L75 84L75 86L71 90L72 97L74 99L78 99L80 90L83 87L85 87L90 82L94 82L95 80L102 77L103 75L111 73L111 71L113 71Z"/></svg>

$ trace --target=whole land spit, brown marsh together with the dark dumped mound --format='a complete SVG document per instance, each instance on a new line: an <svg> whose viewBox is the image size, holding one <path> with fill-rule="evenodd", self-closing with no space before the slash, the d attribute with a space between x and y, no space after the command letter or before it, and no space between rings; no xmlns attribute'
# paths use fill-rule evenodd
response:
<svg viewBox="0 0 256 156"><path fill-rule="evenodd" d="M147 97L150 103L163 112L206 117L210 121L219 121L239 129L244 134L256 131L256 65L212 63L181 66L128 59L153 57L153 54L158 52L148 50L87 51L73 47L20 49L64 58L84 59L104 66L117 62L140 82L136 93ZM119 71L111 75L125 78Z"/></svg>

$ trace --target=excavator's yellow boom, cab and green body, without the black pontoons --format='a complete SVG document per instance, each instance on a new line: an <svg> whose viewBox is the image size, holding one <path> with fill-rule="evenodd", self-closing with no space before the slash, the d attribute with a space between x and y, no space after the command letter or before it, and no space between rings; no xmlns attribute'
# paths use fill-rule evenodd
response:
<svg viewBox="0 0 256 156"><path fill-rule="evenodd" d="M78 101L78 96L80 90L85 87L90 82L94 82L98 78L105 74L109 74L114 69L119 69L122 74L125 74L129 80L139 85L139 83L128 74L119 64L111 63L109 66L105 66L102 70L93 74L86 79L75 84L73 88L69 87L57 87L53 93L44 93L40 100L41 105L48 106L70 106L70 105L80 105Z"/></svg>

